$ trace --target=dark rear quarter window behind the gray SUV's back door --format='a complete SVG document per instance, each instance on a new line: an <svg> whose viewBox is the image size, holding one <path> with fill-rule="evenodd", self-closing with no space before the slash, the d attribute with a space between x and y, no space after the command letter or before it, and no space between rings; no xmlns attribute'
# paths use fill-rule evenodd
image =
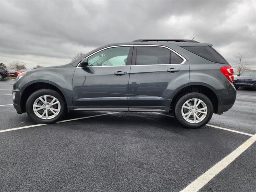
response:
<svg viewBox="0 0 256 192"><path fill-rule="evenodd" d="M210 46L182 46L182 48L215 63L228 64L224 58Z"/></svg>

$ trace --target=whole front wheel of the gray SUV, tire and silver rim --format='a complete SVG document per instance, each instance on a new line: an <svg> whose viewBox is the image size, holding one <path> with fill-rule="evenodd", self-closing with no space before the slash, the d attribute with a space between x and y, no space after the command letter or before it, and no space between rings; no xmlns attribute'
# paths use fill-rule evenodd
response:
<svg viewBox="0 0 256 192"><path fill-rule="evenodd" d="M34 122L55 123L65 115L66 101L60 93L54 90L37 90L28 98L26 112Z"/></svg>

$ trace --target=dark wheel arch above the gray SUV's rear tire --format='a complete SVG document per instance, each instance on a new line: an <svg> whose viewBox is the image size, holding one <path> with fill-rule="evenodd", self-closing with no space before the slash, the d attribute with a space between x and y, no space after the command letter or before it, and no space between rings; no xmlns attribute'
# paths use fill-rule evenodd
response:
<svg viewBox="0 0 256 192"><path fill-rule="evenodd" d="M199 92L199 93L206 95L211 100L212 105L213 105L213 112L217 113L220 98L218 98L217 94L213 90L214 89L210 85L205 85L202 83L201 84L190 84L175 93L175 95L172 99L172 102L170 104L170 110L174 110L178 100L185 94L191 93L191 92Z"/></svg>

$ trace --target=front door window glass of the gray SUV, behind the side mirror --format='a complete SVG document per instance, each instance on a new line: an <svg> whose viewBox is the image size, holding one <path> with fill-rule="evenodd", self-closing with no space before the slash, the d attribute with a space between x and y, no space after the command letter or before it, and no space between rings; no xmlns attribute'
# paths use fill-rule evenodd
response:
<svg viewBox="0 0 256 192"><path fill-rule="evenodd" d="M129 50L129 46L102 50L88 58L88 66L124 66Z"/></svg>

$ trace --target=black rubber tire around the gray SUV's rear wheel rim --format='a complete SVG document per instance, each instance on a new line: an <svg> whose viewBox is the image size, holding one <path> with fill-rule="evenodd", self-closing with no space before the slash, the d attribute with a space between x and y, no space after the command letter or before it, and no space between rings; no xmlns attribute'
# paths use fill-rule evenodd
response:
<svg viewBox="0 0 256 192"><path fill-rule="evenodd" d="M198 122L198 123L190 123L190 122L186 121L182 116L183 104L186 101L193 99L193 98L202 100L206 104L206 107L207 107L207 114L206 114L205 118L201 122ZM212 118L212 114L213 114L213 106L212 106L212 102L210 101L210 99L207 96L205 96L204 94L197 93L197 92L188 93L188 94L182 96L176 103L175 110L174 110L174 116L175 116L176 120L180 124L184 125L187 128L200 128L200 127L206 125Z"/></svg>

